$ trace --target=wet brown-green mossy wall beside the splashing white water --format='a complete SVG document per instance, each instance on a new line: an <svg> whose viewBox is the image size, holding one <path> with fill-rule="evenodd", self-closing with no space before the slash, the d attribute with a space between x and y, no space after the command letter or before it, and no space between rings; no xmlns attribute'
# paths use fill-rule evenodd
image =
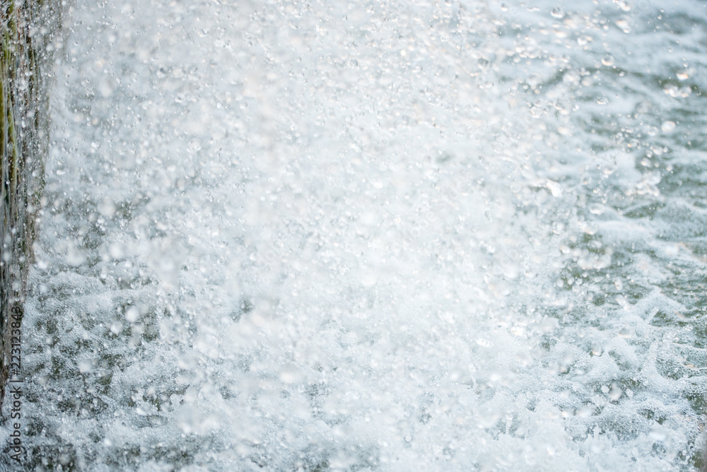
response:
<svg viewBox="0 0 707 472"><path fill-rule="evenodd" d="M12 322L23 315L25 285L33 261L43 171L48 148L47 82L50 51L60 24L49 1L0 0L0 401L9 375ZM14 315L14 316L13 316ZM17 328L17 324L14 328ZM21 332L21 331L20 331ZM21 336L20 336L21 339ZM13 341L17 343L17 336ZM16 361L16 359L14 359Z"/></svg>

